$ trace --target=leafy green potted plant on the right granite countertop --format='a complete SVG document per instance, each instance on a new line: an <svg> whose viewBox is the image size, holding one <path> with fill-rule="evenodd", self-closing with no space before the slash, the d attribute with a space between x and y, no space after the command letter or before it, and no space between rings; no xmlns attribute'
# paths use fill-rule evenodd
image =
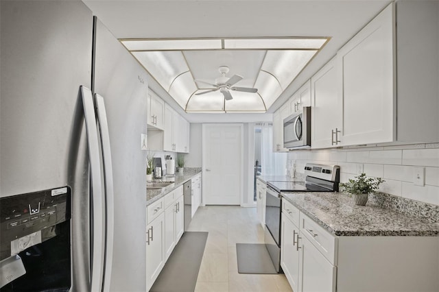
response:
<svg viewBox="0 0 439 292"><path fill-rule="evenodd" d="M370 193L377 191L379 185L385 182L382 178L368 178L366 173L361 173L348 182L340 183L340 191L353 195L355 204L364 206L368 202Z"/></svg>

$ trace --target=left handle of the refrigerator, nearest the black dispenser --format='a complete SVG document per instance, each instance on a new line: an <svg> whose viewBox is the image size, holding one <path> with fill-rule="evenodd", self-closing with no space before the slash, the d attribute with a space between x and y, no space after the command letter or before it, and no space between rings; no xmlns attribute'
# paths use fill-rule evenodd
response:
<svg viewBox="0 0 439 292"><path fill-rule="evenodd" d="M102 174L99 160L99 138L97 137L97 125L95 116L95 104L91 90L81 86L82 105L84 107L84 118L87 132L88 159L91 174L91 195L93 196L93 223L91 223L91 291L102 291L102 276L104 258L104 214L102 193Z"/></svg>

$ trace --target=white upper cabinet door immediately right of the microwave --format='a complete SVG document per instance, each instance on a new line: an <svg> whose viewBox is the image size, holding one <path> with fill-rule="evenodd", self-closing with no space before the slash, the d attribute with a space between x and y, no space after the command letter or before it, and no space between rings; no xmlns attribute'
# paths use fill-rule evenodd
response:
<svg viewBox="0 0 439 292"><path fill-rule="evenodd" d="M342 99L337 89L335 59L311 77L311 147L340 146Z"/></svg>

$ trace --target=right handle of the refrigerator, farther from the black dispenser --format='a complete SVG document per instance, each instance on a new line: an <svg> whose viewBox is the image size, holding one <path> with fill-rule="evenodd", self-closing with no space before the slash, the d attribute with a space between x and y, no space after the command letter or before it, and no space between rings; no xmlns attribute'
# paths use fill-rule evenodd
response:
<svg viewBox="0 0 439 292"><path fill-rule="evenodd" d="M114 188L112 184L112 160L110 149L110 134L108 132L108 121L105 110L104 97L95 94L97 107L97 120L99 132L101 134L102 159L104 160L104 185L105 185L105 220L106 220L106 239L105 239L105 260L104 260L104 289L110 291L110 278L112 267L112 250L114 239Z"/></svg>

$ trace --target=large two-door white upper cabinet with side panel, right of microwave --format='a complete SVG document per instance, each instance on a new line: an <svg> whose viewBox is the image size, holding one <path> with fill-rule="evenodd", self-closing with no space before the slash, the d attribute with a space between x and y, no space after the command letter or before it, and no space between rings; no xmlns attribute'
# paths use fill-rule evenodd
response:
<svg viewBox="0 0 439 292"><path fill-rule="evenodd" d="M390 3L311 77L311 147L439 141L438 19Z"/></svg>

